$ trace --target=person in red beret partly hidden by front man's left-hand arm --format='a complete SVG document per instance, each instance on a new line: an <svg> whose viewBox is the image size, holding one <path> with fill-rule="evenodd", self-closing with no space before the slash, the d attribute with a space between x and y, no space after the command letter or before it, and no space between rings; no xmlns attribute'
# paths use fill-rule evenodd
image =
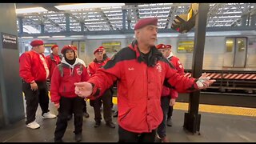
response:
<svg viewBox="0 0 256 144"><path fill-rule="evenodd" d="M103 51L104 48L99 46L97 49L94 50L94 61L90 62L88 66L88 71L90 76L94 76L96 70L102 68L106 64L107 61L103 60ZM110 128L115 128L114 123L112 122L112 94L110 88L105 90L102 94L101 98L97 98L95 100L90 100L90 106L94 107L94 120L95 125L94 127L98 127L101 125L102 114L101 114L101 106L103 103L103 118L106 122L106 126Z"/></svg>

